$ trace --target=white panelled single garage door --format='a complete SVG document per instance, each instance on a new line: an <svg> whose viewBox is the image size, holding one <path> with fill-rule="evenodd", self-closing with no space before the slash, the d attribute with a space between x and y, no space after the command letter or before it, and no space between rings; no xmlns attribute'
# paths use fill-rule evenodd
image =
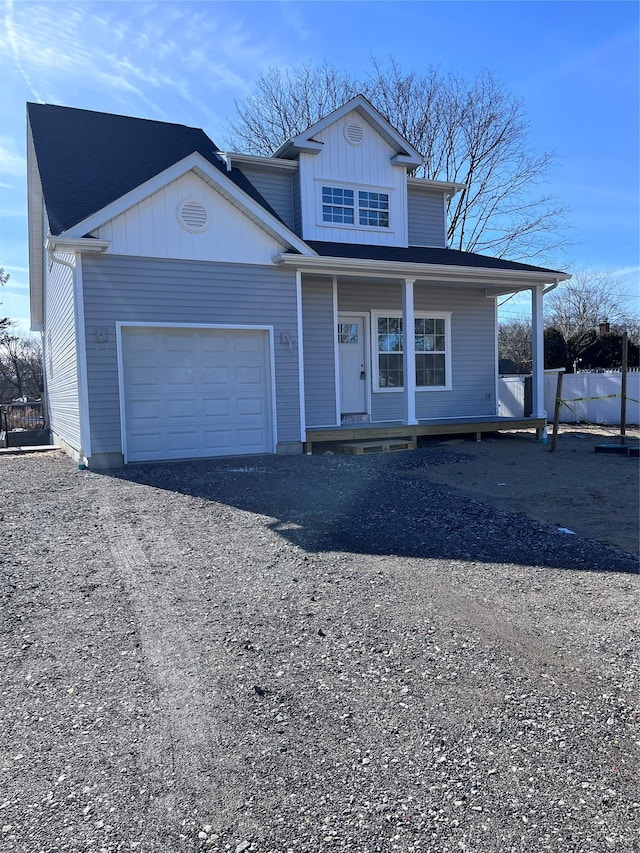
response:
<svg viewBox="0 0 640 853"><path fill-rule="evenodd" d="M122 328L127 462L273 452L269 339Z"/></svg>

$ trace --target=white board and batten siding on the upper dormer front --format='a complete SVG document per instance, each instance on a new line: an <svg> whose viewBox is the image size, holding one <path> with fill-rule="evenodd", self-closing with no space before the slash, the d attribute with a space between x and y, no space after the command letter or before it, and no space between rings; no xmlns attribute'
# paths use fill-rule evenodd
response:
<svg viewBox="0 0 640 853"><path fill-rule="evenodd" d="M347 142L344 131L357 122L364 131L360 145ZM393 166L394 149L352 111L315 137L323 143L317 154L300 154L302 236L374 246L407 245L407 170ZM322 186L381 191L389 194L389 228L335 225L322 221ZM357 216L356 216L357 219Z"/></svg>

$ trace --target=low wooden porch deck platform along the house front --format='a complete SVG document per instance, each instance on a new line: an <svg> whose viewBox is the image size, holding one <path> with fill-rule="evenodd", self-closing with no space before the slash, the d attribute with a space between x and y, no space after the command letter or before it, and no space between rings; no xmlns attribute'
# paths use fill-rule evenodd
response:
<svg viewBox="0 0 640 853"><path fill-rule="evenodd" d="M484 432L500 430L535 429L542 437L547 426L546 418L434 418L417 424L402 424L398 421L369 424L346 424L340 427L319 427L306 430L305 453L313 452L313 445L325 441L371 441L382 438L405 438L416 447L420 435L465 435L475 434L481 441Z"/></svg>

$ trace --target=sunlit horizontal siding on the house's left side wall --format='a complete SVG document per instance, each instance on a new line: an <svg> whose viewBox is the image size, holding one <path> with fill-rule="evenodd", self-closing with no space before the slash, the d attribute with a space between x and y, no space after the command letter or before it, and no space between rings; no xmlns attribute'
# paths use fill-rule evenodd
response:
<svg viewBox="0 0 640 853"><path fill-rule="evenodd" d="M68 262L72 254L59 254ZM70 447L81 451L78 357L74 310L74 271L45 263L43 368L49 425Z"/></svg>

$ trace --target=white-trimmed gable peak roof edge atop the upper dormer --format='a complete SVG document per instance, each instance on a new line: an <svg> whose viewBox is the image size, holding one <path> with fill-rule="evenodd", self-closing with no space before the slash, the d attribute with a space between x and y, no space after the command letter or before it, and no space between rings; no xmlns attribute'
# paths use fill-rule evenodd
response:
<svg viewBox="0 0 640 853"><path fill-rule="evenodd" d="M394 162L411 168L423 165L424 157L420 152L414 148L411 143L407 142L402 134L400 134L395 127L387 121L382 113L378 112L378 110L364 97L364 95L356 95L355 98L351 98L350 101L347 101L346 104L338 107L337 110L323 116L302 133L287 140L278 148L277 151L273 153L273 157L290 159L296 157L301 151L310 152L312 154L319 153L322 151L323 146L322 143L318 142L314 137L321 133L325 128L329 127L329 125L343 118L353 110L358 112L362 118L370 124L393 149L395 149L396 154L393 158Z"/></svg>

